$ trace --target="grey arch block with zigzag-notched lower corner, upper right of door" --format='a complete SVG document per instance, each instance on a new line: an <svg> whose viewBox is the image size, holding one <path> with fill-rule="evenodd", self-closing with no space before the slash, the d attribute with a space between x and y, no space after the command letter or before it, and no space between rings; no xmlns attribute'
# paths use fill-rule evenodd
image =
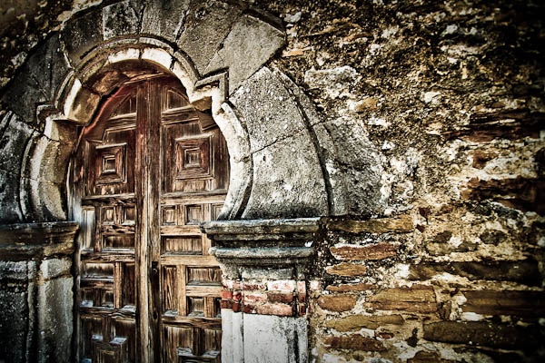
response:
<svg viewBox="0 0 545 363"><path fill-rule="evenodd" d="M284 44L283 33L263 21L243 15L223 41L204 74L229 68L229 94L257 71Z"/></svg>

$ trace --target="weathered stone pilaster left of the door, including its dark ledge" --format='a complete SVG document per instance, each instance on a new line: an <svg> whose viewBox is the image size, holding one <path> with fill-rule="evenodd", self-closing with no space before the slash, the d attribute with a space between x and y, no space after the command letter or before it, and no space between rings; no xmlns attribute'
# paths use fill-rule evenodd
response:
<svg viewBox="0 0 545 363"><path fill-rule="evenodd" d="M69 362L75 222L0 226L0 361Z"/></svg>

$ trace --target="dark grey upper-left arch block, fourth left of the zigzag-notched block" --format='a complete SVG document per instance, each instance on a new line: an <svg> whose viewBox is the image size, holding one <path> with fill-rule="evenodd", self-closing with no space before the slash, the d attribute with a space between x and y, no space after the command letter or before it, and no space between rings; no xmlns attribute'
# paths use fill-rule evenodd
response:
<svg viewBox="0 0 545 363"><path fill-rule="evenodd" d="M81 62L84 54L103 41L102 19L102 10L94 9L73 17L64 25L61 32L64 49L74 66Z"/></svg>

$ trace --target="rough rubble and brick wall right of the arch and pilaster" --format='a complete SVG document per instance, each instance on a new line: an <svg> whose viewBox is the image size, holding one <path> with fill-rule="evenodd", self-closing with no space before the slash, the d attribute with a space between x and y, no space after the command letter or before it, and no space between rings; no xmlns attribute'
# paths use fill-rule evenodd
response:
<svg viewBox="0 0 545 363"><path fill-rule="evenodd" d="M379 216L406 213L414 226L328 232L313 284L312 355L539 356L542 4L261 4L291 23L272 63L328 120L361 196L352 202ZM379 191L365 188L369 168Z"/></svg>

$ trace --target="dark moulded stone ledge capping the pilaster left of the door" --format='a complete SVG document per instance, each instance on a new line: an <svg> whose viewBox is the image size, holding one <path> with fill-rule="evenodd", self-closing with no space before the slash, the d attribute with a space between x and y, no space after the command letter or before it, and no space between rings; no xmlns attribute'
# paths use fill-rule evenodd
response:
<svg viewBox="0 0 545 363"><path fill-rule="evenodd" d="M74 221L0 225L0 256L25 260L70 254L77 230Z"/></svg>

